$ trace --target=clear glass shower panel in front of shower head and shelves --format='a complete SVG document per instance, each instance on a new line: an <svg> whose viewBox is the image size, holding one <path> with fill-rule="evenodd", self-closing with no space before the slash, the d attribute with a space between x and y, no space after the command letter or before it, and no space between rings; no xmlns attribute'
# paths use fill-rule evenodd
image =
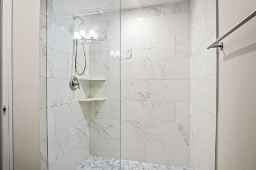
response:
<svg viewBox="0 0 256 170"><path fill-rule="evenodd" d="M46 46L48 169L120 169L120 1L48 0Z"/></svg>

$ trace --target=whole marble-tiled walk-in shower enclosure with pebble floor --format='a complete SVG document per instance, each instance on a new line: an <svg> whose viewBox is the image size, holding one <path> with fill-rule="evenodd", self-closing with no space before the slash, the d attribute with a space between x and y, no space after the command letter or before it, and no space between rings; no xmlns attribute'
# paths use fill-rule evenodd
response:
<svg viewBox="0 0 256 170"><path fill-rule="evenodd" d="M214 170L217 56L206 46L216 38L215 7L41 0L41 169ZM86 55L81 76L76 47L79 73ZM70 89L72 76L80 89Z"/></svg>

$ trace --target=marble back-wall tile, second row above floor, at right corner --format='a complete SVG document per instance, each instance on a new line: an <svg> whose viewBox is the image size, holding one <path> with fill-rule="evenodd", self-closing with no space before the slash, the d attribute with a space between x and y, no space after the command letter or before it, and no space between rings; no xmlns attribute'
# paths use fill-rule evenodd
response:
<svg viewBox="0 0 256 170"><path fill-rule="evenodd" d="M161 123L161 143L189 146L189 124Z"/></svg>

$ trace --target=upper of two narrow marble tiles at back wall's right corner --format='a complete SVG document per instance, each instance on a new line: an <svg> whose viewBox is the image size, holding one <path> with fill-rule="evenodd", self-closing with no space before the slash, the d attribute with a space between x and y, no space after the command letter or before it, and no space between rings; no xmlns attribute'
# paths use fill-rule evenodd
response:
<svg viewBox="0 0 256 170"><path fill-rule="evenodd" d="M190 35L176 35L176 57L190 57Z"/></svg>

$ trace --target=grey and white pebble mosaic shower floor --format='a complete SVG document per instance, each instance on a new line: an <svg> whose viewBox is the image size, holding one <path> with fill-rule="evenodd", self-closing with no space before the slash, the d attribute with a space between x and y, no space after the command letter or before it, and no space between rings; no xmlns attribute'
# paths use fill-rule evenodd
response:
<svg viewBox="0 0 256 170"><path fill-rule="evenodd" d="M120 162L121 161L121 162ZM120 167L121 164L121 167ZM88 156L76 170L189 170L177 166L150 164L133 160L120 160L100 156Z"/></svg>

